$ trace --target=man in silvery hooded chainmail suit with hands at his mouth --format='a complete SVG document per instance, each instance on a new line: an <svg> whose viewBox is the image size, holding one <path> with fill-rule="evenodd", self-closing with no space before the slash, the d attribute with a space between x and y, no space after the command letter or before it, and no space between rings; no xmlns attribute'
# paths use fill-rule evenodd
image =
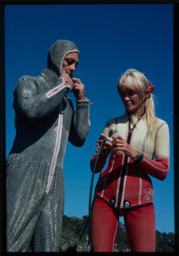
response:
<svg viewBox="0 0 179 256"><path fill-rule="evenodd" d="M6 170L8 252L26 252L29 245L34 252L58 252L67 140L81 147L90 127L84 85L72 76L78 59L74 43L57 40L40 76L23 76L16 84L16 136Z"/></svg>

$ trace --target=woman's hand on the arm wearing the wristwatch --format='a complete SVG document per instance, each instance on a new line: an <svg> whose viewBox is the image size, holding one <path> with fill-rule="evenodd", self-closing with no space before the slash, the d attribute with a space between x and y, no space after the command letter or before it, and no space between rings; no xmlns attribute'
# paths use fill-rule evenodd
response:
<svg viewBox="0 0 179 256"><path fill-rule="evenodd" d="M125 153L125 155L135 158L136 156L136 150L132 149L131 146L120 136L117 135L111 136L114 139L114 142L112 143L111 152L115 153L116 150L121 150Z"/></svg>

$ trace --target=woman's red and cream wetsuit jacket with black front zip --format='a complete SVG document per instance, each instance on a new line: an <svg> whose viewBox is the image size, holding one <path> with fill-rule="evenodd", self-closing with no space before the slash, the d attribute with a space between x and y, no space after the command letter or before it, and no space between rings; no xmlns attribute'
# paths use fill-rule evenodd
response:
<svg viewBox="0 0 179 256"><path fill-rule="evenodd" d="M112 153L108 167L100 177L97 199L102 199L110 207L118 208L121 216L125 209L134 210L153 204L153 186L149 175L164 180L169 171L169 129L166 122L156 119L155 129L149 135L145 115L137 120L136 114L129 115L126 112L124 116L110 119L103 133L108 136L121 135L144 158L137 164L122 151ZM97 153L91 159L91 170L96 156ZM107 156L103 166L106 159ZM100 172L102 160L103 157L99 156L96 172Z"/></svg>

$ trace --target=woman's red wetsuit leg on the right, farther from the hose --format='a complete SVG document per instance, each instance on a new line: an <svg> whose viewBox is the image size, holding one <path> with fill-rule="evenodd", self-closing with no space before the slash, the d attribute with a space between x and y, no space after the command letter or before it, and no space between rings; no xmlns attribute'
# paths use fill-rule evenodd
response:
<svg viewBox="0 0 179 256"><path fill-rule="evenodd" d="M124 223L132 252L155 252L154 205L126 211Z"/></svg>

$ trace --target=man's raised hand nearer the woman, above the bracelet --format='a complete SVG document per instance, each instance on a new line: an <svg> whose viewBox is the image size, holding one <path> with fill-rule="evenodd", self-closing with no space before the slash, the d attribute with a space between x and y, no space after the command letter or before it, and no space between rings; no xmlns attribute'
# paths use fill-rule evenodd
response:
<svg viewBox="0 0 179 256"><path fill-rule="evenodd" d="M74 93L74 97L77 99L77 101L84 101L85 100L84 84L82 84L79 78L73 77L72 81L74 82L74 84L72 86L71 92Z"/></svg>

